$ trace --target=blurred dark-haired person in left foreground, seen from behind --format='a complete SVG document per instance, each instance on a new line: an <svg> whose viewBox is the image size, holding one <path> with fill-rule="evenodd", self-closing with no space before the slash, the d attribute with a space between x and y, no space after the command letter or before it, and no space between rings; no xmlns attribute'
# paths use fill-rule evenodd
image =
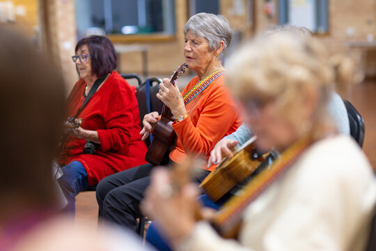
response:
<svg viewBox="0 0 376 251"><path fill-rule="evenodd" d="M15 28L0 25L0 250L141 250L128 232L98 234L58 213L51 162L63 128L63 76Z"/></svg>

